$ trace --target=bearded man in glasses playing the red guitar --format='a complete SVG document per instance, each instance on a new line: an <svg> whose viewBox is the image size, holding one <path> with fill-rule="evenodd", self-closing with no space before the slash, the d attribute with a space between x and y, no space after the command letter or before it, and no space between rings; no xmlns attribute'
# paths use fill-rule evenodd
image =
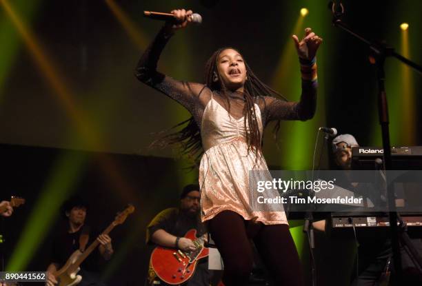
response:
<svg viewBox="0 0 422 286"><path fill-rule="evenodd" d="M155 216L147 227L146 241L150 245L179 248L185 252L195 249L194 243L185 238L190 229L197 229L197 236L205 234L205 225L199 216L199 185L187 185L180 196L180 206L163 210ZM148 273L146 285L167 285L159 280L154 270ZM194 275L185 285L209 286L210 273L208 259L198 261Z"/></svg>

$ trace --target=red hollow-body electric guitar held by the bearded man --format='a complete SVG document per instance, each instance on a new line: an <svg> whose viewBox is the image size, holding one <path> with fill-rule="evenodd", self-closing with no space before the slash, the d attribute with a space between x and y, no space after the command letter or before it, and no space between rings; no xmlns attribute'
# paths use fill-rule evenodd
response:
<svg viewBox="0 0 422 286"><path fill-rule="evenodd" d="M178 285L185 283L194 274L199 259L208 256L208 248L203 246L205 239L197 238L197 231L190 229L185 234L197 247L192 252L181 249L157 246L152 251L150 265L157 276L165 283Z"/></svg>

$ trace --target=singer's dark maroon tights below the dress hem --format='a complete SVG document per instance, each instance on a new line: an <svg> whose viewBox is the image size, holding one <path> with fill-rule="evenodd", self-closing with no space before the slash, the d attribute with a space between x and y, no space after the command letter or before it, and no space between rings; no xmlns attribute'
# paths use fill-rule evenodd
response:
<svg viewBox="0 0 422 286"><path fill-rule="evenodd" d="M303 285L302 267L288 225L252 223L235 212L223 211L209 221L208 227L223 258L225 286L248 285L253 263L250 238L277 286Z"/></svg>

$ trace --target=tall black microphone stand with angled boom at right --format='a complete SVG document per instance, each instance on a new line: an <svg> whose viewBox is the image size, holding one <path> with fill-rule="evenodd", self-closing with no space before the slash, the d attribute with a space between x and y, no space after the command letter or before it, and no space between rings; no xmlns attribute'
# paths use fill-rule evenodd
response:
<svg viewBox="0 0 422 286"><path fill-rule="evenodd" d="M381 125L381 134L383 140L383 150L384 150L384 166L385 170L392 170L392 160L391 160L391 147L390 147L390 132L388 129L389 119L388 119L388 105L387 105L387 94L385 92L385 71L384 71L384 62L387 57L394 57L404 63L405 65L410 66L422 74L422 67L416 63L406 59L394 52L394 48L389 47L386 43L376 43L366 39L358 32L354 32L351 28L348 27L341 17L344 14L343 4L339 4L340 7L336 8L335 3L330 3L330 9L332 10L332 24L334 27L340 28L341 30L348 32L354 38L359 39L370 48L370 63L375 65L376 68L376 80L378 82L378 111L379 111L379 123ZM392 189L391 184L387 184L387 193L388 193L388 208L390 210L390 235L392 238L392 250L394 258L394 269L398 280L400 281L403 276L403 271L401 268L401 256L399 249L399 237L398 237L398 227L397 227L397 212L394 200L394 190Z"/></svg>

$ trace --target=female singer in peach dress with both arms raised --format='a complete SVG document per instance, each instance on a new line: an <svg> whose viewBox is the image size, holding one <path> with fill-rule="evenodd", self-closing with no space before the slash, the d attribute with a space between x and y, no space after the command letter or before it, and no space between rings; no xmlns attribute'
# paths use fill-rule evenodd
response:
<svg viewBox="0 0 422 286"><path fill-rule="evenodd" d="M161 143L181 143L185 154L202 155L201 218L208 222L223 257L223 283L248 283L252 238L277 285L303 285L302 267L285 213L252 210L248 171L268 170L262 154L265 125L314 116L315 55L322 39L310 28L301 40L292 36L299 54L302 94L299 102L290 102L261 82L234 48L220 48L212 54L205 64L204 83L177 81L158 72L157 61L168 39L192 21L191 10L173 10L172 14L177 22L167 22L161 28L139 60L136 76L192 114L183 122L183 130L165 136Z"/></svg>

